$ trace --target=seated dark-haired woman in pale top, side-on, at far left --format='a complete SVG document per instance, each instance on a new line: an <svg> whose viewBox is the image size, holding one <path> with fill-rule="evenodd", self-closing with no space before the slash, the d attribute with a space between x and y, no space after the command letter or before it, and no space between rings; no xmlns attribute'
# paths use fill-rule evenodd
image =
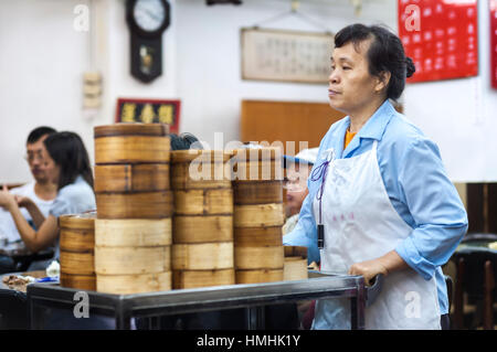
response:
<svg viewBox="0 0 497 352"><path fill-rule="evenodd" d="M88 153L78 135L68 131L53 134L44 140L44 147L42 168L47 178L57 184L57 196L49 216L44 217L30 199L15 198L7 189L0 192L0 206L11 213L21 238L30 250L39 252L56 243L57 257L59 216L96 209L93 174ZM38 231L25 221L20 206L24 206L35 220Z"/></svg>

